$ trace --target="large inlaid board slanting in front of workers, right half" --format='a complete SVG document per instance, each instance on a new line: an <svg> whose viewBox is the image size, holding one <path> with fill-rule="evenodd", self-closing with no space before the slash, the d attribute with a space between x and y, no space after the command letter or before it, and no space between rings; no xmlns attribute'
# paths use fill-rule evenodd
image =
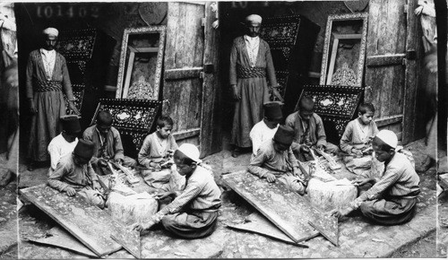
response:
<svg viewBox="0 0 448 260"><path fill-rule="evenodd" d="M268 183L246 170L225 175L222 179L295 242L315 236L315 230L308 221L322 213L306 198L290 192L279 182Z"/></svg>

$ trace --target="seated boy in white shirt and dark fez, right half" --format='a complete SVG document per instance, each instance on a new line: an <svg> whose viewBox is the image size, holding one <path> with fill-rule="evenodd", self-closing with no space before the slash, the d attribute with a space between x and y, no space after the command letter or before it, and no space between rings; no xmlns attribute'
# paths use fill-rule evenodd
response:
<svg viewBox="0 0 448 260"><path fill-rule="evenodd" d="M281 113L280 104L278 102L268 102L263 104L264 118L262 121L255 124L250 132L252 140L252 158L255 157L258 148L262 143L267 140L271 140L274 137L275 132L283 115Z"/></svg>

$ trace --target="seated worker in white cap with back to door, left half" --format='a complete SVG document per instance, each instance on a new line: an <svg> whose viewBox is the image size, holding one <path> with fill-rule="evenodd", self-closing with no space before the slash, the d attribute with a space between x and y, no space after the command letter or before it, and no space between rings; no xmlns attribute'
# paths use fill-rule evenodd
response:
<svg viewBox="0 0 448 260"><path fill-rule="evenodd" d="M191 143L180 145L174 153L179 174L185 176L187 185L182 193L168 192L159 199L176 196L174 201L151 217L151 221L134 225L135 230L148 230L159 221L166 230L181 238L203 238L211 235L218 223L220 188L213 173L202 168L199 151Z"/></svg>

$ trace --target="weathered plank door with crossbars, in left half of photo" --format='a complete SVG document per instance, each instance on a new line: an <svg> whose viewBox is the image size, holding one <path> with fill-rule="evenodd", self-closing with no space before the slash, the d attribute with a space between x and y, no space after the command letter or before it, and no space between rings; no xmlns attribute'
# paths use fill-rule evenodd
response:
<svg viewBox="0 0 448 260"><path fill-rule="evenodd" d="M215 12L217 13L217 12ZM168 2L163 115L175 121L177 143L217 152L218 34L211 2Z"/></svg>

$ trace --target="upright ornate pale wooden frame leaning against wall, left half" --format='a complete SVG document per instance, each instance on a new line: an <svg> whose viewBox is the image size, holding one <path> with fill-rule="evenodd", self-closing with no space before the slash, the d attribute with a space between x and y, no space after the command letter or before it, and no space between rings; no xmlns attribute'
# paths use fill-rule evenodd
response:
<svg viewBox="0 0 448 260"><path fill-rule="evenodd" d="M159 33L159 46L157 48L134 48L129 46L128 40L130 35L136 34L154 34ZM131 75L134 66L135 53L151 53L157 51L157 64L154 75L154 82L152 82L153 96L155 100L159 98L159 88L161 82L163 54L165 50L165 35L166 26L149 26L140 28L126 28L123 33L123 41L121 46L120 65L118 68L118 78L116 82L116 99L126 99L129 91L129 84L131 83ZM129 58L126 59L129 50ZM127 68L126 68L127 62Z"/></svg>

